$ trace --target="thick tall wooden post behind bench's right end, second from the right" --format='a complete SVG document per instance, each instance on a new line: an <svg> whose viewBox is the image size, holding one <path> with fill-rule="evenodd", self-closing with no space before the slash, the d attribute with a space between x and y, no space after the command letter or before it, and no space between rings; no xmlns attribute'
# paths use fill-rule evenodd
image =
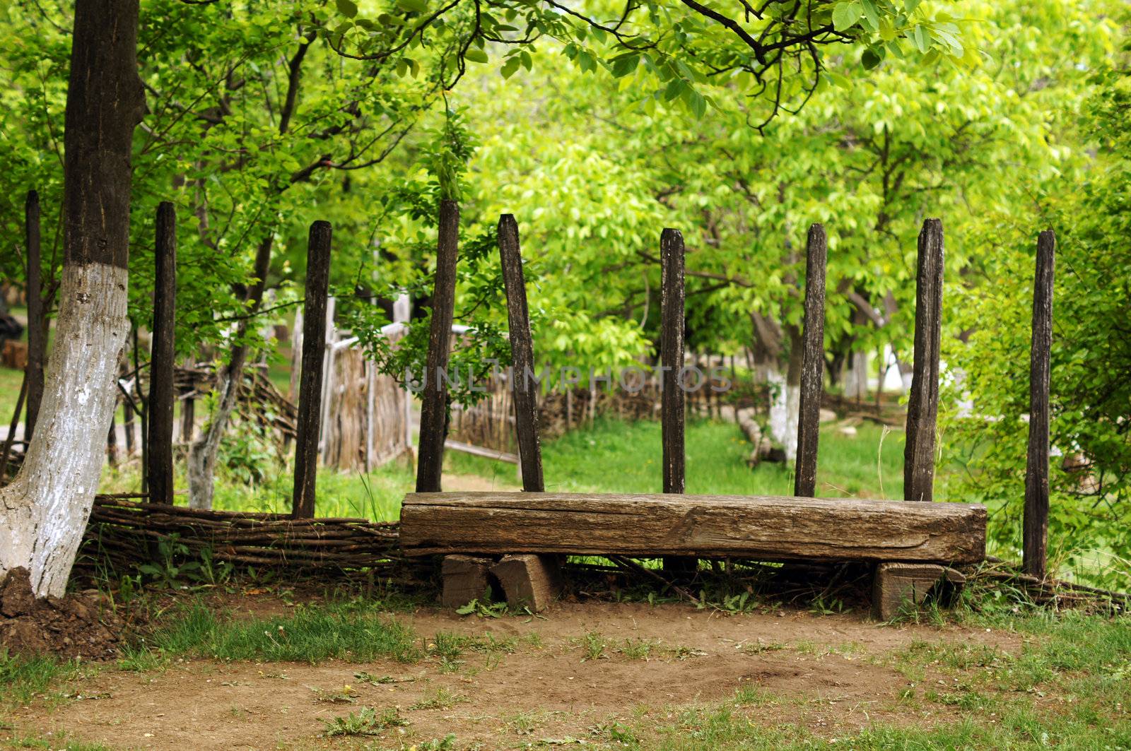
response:
<svg viewBox="0 0 1131 751"><path fill-rule="evenodd" d="M926 219L918 238L915 283L915 361L907 400L904 500L934 498L934 431L939 413L939 347L942 339L942 222Z"/></svg>

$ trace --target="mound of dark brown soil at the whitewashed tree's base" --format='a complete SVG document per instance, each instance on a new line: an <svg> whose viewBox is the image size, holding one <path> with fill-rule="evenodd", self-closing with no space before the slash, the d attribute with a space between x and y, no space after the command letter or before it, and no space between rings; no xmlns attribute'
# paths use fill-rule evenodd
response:
<svg viewBox="0 0 1131 751"><path fill-rule="evenodd" d="M118 655L122 623L102 607L97 593L37 599L27 569L12 569L0 584L0 649L106 659Z"/></svg>

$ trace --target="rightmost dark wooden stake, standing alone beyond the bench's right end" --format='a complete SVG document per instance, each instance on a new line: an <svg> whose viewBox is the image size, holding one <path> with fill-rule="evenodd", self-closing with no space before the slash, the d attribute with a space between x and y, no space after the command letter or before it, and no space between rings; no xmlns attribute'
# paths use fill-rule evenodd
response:
<svg viewBox="0 0 1131 751"><path fill-rule="evenodd" d="M1033 345L1029 351L1029 456L1025 467L1024 568L1045 578L1048 544L1048 380L1053 344L1053 267L1056 235L1037 238L1033 279Z"/></svg>

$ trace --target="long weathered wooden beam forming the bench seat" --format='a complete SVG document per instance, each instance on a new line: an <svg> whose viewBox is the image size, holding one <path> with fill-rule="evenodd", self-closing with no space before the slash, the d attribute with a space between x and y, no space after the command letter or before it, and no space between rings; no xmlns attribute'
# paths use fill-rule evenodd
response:
<svg viewBox="0 0 1131 751"><path fill-rule="evenodd" d="M407 554L568 553L965 563L985 507L761 495L411 493Z"/></svg>

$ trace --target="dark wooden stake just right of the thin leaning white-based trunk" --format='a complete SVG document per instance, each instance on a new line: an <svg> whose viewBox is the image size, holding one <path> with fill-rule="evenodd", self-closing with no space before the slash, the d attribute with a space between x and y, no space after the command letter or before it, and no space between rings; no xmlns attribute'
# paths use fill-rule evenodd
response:
<svg viewBox="0 0 1131 751"><path fill-rule="evenodd" d="M310 225L307 240L307 301L302 319L302 372L294 441L294 494L291 516L314 518L318 431L322 414L322 361L326 355L326 297L330 285L329 222Z"/></svg>

